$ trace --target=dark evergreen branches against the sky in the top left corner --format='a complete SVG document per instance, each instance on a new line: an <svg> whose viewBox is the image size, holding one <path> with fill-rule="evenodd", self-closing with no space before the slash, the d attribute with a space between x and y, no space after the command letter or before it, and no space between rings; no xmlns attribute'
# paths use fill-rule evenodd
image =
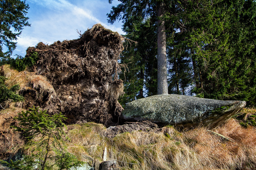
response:
<svg viewBox="0 0 256 170"><path fill-rule="evenodd" d="M17 40L24 26L30 26L28 17L25 17L28 9L26 0L0 1L0 58L12 55L16 48L16 42L13 41ZM6 52L3 52L3 46L8 49Z"/></svg>

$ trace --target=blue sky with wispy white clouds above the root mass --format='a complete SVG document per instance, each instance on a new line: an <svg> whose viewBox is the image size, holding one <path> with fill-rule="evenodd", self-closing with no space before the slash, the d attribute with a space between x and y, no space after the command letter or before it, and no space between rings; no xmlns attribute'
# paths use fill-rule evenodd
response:
<svg viewBox="0 0 256 170"><path fill-rule="evenodd" d="M27 0L26 3L30 7L26 16L31 27L24 27L13 56L24 57L26 49L39 42L50 45L58 40L76 39L79 37L76 30L83 33L96 23L124 34L122 22L111 25L106 16L112 6L119 4L118 0L112 4L108 0Z"/></svg>

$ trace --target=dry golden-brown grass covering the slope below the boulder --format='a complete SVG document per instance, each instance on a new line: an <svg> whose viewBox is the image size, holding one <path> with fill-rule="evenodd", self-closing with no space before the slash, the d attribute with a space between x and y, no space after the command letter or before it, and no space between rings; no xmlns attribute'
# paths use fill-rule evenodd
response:
<svg viewBox="0 0 256 170"><path fill-rule="evenodd" d="M234 139L225 142L204 128L178 132L166 126L160 133L134 131L114 138L106 137L101 124L86 123L69 126L70 152L102 161L102 151L108 150L108 160L119 163L120 169L255 169L255 129L242 128L231 119L215 132ZM168 134L168 135L167 135ZM81 158L82 159L82 158Z"/></svg>

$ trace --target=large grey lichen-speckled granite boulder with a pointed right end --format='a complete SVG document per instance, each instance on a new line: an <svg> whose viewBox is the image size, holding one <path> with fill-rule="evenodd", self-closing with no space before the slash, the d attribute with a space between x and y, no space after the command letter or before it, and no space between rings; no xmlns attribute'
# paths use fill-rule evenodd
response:
<svg viewBox="0 0 256 170"><path fill-rule="evenodd" d="M230 119L245 105L245 101L222 101L163 94L128 103L122 112L122 119L150 120L154 123L183 127L214 128Z"/></svg>

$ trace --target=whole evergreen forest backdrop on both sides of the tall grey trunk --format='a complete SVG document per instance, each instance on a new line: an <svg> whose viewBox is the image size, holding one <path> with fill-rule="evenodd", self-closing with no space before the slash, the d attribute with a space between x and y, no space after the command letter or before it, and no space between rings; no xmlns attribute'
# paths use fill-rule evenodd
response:
<svg viewBox="0 0 256 170"><path fill-rule="evenodd" d="M126 74L129 77L127 79L134 84L126 82L125 93L135 94L132 100L140 98L140 94L144 94L143 97L154 95L146 86L149 83L148 76L144 76L142 81L142 76L139 78L138 75L141 69L144 71L143 75L153 78L150 82L157 82L156 77L147 70L150 64L153 68L157 60L144 59L144 53L148 50L144 43L153 47L156 41L147 36L144 37L151 41L138 38L146 35L145 31L148 30L137 28L148 22L151 30L156 29L154 18L157 18L157 1L120 2L107 14L109 22L122 20L126 37L138 42L138 47L125 49L122 56L122 63L128 64L129 70L135 69ZM248 105L255 105L256 2L164 2L165 15L162 19L165 20L166 28L168 93L219 100L245 100ZM148 34L157 37L154 31ZM134 54L140 57L134 58ZM156 58L156 54L151 55L151 58ZM122 73L120 77L124 79ZM138 80L144 82L143 86L136 83ZM129 95L124 97L128 99L126 102L131 101ZM124 101L124 98L122 100Z"/></svg>

